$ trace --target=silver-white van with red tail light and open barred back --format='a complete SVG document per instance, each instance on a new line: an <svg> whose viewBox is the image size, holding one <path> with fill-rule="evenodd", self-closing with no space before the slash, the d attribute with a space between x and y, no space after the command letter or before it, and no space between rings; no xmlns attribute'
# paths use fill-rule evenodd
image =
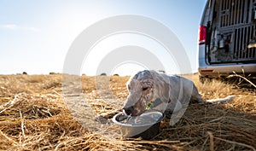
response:
<svg viewBox="0 0 256 151"><path fill-rule="evenodd" d="M199 29L200 78L256 74L256 0L208 0Z"/></svg>

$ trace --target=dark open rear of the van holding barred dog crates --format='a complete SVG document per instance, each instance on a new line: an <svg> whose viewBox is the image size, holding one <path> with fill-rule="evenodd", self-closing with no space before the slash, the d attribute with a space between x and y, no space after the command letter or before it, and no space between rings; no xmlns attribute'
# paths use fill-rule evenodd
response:
<svg viewBox="0 0 256 151"><path fill-rule="evenodd" d="M256 63L256 0L210 0L207 7L207 62Z"/></svg>

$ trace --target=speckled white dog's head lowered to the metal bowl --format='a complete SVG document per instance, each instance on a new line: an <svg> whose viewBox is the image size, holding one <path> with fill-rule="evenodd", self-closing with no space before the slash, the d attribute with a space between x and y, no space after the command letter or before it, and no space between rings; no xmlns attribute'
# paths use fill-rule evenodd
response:
<svg viewBox="0 0 256 151"><path fill-rule="evenodd" d="M126 114L137 116L142 114L148 103L154 100L154 78L153 75L145 70L131 77L127 82L129 96L123 109Z"/></svg>

